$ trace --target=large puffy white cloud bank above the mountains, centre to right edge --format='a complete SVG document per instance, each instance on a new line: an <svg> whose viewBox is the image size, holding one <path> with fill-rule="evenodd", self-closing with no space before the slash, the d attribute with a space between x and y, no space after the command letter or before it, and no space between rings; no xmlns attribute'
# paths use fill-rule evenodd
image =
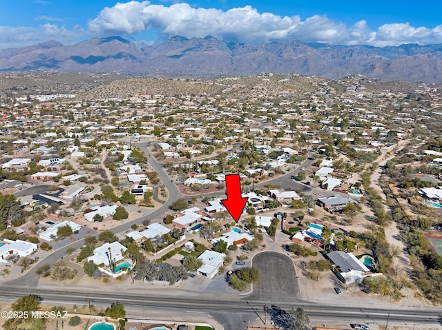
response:
<svg viewBox="0 0 442 330"><path fill-rule="evenodd" d="M409 23L394 23L382 25L373 31L365 21L358 21L348 28L345 23L325 15L314 15L302 21L299 16L259 13L251 6L222 11L193 8L188 3L164 6L153 5L149 1L129 1L104 8L88 23L88 32L98 37L135 34L148 29L159 30L169 36L205 37L211 34L225 41L246 43L289 39L376 46L442 43L442 25L430 29L414 28Z"/></svg>

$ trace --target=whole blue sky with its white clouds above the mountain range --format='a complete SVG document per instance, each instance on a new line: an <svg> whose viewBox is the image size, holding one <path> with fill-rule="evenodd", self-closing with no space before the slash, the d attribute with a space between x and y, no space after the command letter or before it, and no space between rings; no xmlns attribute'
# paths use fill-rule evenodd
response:
<svg viewBox="0 0 442 330"><path fill-rule="evenodd" d="M442 1L434 0L1 0L0 12L0 49L111 35L155 43L175 34L244 43L442 43Z"/></svg>

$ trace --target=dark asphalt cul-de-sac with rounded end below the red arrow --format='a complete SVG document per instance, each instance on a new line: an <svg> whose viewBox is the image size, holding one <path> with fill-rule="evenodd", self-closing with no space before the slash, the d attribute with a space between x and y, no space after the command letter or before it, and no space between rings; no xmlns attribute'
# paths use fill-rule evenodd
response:
<svg viewBox="0 0 442 330"><path fill-rule="evenodd" d="M260 280L246 299L291 302L298 299L299 285L293 261L278 252L262 252L251 260L260 270Z"/></svg>

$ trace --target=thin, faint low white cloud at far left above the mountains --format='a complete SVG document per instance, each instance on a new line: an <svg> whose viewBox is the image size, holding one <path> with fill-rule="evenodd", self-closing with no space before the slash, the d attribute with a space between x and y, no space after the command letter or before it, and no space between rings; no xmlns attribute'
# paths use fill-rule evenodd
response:
<svg viewBox="0 0 442 330"><path fill-rule="evenodd" d="M86 37L83 28L76 26L68 30L64 26L46 23L37 27L0 26L0 49L34 45L49 40L57 40L64 44L72 44Z"/></svg>

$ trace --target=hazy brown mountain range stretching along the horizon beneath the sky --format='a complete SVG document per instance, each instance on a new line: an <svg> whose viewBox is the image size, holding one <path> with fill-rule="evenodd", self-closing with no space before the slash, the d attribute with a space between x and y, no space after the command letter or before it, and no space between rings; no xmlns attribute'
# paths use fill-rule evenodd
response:
<svg viewBox="0 0 442 330"><path fill-rule="evenodd" d="M48 41L0 50L0 71L119 72L147 76L226 76L261 72L338 79L347 74L385 81L442 82L442 44L377 48L275 41L250 45L214 37L175 36L139 47L121 37L74 45Z"/></svg>

